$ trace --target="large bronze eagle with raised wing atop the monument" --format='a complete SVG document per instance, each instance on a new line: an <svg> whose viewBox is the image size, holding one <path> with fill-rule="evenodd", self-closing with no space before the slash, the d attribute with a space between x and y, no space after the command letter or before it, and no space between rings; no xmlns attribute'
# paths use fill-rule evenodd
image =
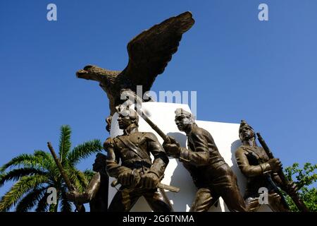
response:
<svg viewBox="0 0 317 226"><path fill-rule="evenodd" d="M128 43L128 66L123 71L109 71L88 65L77 71L77 78L98 81L109 99L110 114L116 112L120 91L130 89L136 93L142 85L143 93L151 89L156 76L163 73L172 55L177 52L182 34L192 28L192 13L185 12L154 25ZM142 94L143 95L143 94Z"/></svg>

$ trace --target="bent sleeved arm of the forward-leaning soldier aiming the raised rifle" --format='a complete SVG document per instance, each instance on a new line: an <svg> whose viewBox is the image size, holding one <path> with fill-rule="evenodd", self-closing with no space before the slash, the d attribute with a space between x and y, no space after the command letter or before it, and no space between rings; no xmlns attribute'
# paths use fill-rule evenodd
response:
<svg viewBox="0 0 317 226"><path fill-rule="evenodd" d="M192 134L194 150L180 148L180 160L189 162L195 166L204 166L209 164L209 147L208 141L203 134Z"/></svg>

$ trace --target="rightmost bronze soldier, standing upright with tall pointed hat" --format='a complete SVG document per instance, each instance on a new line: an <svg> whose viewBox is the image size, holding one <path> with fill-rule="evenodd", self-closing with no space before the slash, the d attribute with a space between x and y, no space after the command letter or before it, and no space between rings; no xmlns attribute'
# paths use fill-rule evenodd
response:
<svg viewBox="0 0 317 226"><path fill-rule="evenodd" d="M242 145L237 148L235 158L242 174L247 177L247 191L244 199L249 211L256 211L261 206L259 189L268 189L268 206L276 212L290 211L277 186L281 189L296 192L294 183L282 184L278 173L282 163L278 158L270 159L266 151L256 145L256 135L246 121L242 120L239 129ZM264 204L264 203L263 203Z"/></svg>

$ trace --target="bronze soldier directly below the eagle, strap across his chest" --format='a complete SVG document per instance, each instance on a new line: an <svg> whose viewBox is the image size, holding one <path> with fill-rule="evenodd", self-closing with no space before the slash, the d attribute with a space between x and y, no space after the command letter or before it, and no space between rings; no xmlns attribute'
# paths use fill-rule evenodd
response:
<svg viewBox="0 0 317 226"><path fill-rule="evenodd" d="M116 107L119 128L123 135L108 138L107 172L121 184L108 208L109 212L126 212L144 196L152 210L173 210L165 191L157 185L163 179L168 156L154 133L139 132L137 112L123 106ZM154 156L152 162L150 154ZM119 165L121 160L121 165Z"/></svg>

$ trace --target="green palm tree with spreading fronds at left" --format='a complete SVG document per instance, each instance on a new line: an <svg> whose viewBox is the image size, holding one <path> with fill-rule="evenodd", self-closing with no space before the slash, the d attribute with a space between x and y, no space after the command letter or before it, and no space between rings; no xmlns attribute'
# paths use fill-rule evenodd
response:
<svg viewBox="0 0 317 226"><path fill-rule="evenodd" d="M58 158L68 174L70 182L78 191L84 191L93 172L84 172L76 168L80 160L102 150L99 140L92 140L77 145L71 150L70 126L61 126ZM53 157L44 150L35 150L30 154L22 154L0 167L0 187L5 182L15 181L11 189L0 199L0 211L8 211L15 207L17 212L34 210L58 211L72 210L72 204L66 199L66 184L58 171ZM56 188L57 203L49 205L46 201L49 187Z"/></svg>

